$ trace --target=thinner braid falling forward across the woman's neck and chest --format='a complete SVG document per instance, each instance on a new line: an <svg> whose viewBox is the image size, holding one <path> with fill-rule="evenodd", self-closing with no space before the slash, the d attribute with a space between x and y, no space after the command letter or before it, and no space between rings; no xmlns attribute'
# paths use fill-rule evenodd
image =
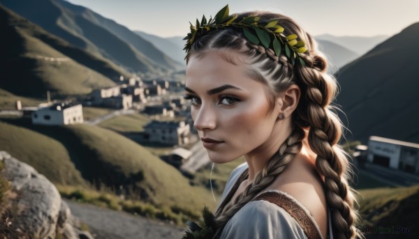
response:
<svg viewBox="0 0 419 239"><path fill-rule="evenodd" d="M216 214L217 236L221 235L224 226L226 226L230 218L268 185L271 185L274 179L288 166L294 155L300 153L302 139L304 139L304 131L300 127L295 127L290 136L284 141L284 144L279 147L277 153L265 165L263 170L256 175L253 183L249 184L244 192L235 198L233 203L228 204L222 213L219 212Z"/></svg>

